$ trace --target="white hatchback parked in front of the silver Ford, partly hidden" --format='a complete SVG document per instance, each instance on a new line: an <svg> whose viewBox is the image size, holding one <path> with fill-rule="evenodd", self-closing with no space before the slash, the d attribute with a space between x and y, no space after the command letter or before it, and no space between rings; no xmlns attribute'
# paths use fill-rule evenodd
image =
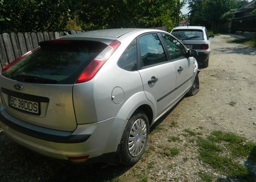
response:
<svg viewBox="0 0 256 182"><path fill-rule="evenodd" d="M176 27L171 34L179 39L188 49L196 49L199 55L196 60L202 67L207 68L210 56L210 38L207 28L200 26Z"/></svg>

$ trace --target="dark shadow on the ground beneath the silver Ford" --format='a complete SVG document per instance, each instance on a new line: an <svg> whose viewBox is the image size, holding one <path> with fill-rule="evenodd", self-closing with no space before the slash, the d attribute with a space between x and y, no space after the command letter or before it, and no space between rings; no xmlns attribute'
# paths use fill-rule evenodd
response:
<svg viewBox="0 0 256 182"><path fill-rule="evenodd" d="M183 99L181 99L182 101ZM161 123L180 101L154 123ZM0 181L119 181L116 179L131 167L105 164L70 164L54 160L19 146L0 132Z"/></svg>

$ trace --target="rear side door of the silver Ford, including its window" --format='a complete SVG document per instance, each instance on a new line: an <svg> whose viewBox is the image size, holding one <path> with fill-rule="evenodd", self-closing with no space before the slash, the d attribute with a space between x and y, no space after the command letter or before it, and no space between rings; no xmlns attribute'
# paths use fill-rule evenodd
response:
<svg viewBox="0 0 256 182"><path fill-rule="evenodd" d="M158 118L175 100L176 73L174 63L168 61L158 34L144 34L137 38L138 72L144 92L152 102Z"/></svg>

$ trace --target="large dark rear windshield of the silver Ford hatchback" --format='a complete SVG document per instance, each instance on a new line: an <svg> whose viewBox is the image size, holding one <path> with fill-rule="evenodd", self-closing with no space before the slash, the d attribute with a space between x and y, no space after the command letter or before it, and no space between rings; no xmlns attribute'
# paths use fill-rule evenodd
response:
<svg viewBox="0 0 256 182"><path fill-rule="evenodd" d="M93 41L43 42L38 51L27 55L2 73L22 82L74 84L89 63L107 46Z"/></svg>

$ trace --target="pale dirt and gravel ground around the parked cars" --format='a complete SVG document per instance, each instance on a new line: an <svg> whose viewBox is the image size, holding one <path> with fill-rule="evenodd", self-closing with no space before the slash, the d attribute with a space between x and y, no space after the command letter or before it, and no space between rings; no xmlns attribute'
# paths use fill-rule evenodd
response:
<svg viewBox="0 0 256 182"><path fill-rule="evenodd" d="M72 166L48 159L9 140L0 129L0 181L200 181L204 171L226 180L198 158L193 137L211 131L232 132L256 142L256 48L228 43L229 35L212 39L209 67L201 69L200 92L185 97L151 131L143 158L133 167ZM168 138L179 136L179 142ZM165 147L179 155L163 156ZM244 164L245 159L240 163ZM251 179L254 181L255 179Z"/></svg>

